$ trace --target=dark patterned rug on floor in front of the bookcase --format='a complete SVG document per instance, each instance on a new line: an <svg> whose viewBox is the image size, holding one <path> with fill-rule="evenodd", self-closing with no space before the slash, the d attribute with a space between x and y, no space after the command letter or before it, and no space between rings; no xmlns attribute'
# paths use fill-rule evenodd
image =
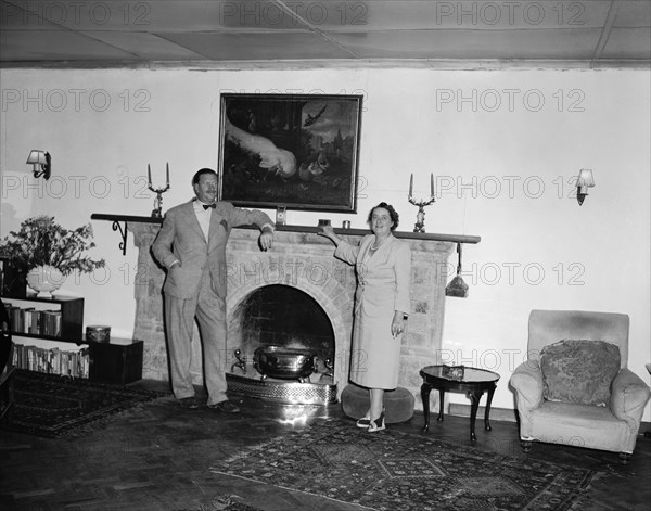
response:
<svg viewBox="0 0 651 511"><path fill-rule="evenodd" d="M164 394L16 369L5 430L48 438L77 436L122 410Z"/></svg>

